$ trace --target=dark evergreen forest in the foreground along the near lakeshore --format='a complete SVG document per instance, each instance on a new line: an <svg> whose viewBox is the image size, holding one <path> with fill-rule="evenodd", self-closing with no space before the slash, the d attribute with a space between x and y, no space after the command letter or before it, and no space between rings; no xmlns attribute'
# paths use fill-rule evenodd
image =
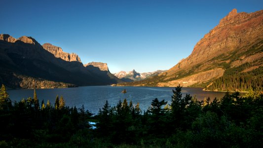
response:
<svg viewBox="0 0 263 148"><path fill-rule="evenodd" d="M149 110L126 99L98 114L34 97L12 102L0 89L0 148L261 148L263 92L226 92L223 98L182 95L171 104L153 98ZM95 125L92 123L96 123Z"/></svg>

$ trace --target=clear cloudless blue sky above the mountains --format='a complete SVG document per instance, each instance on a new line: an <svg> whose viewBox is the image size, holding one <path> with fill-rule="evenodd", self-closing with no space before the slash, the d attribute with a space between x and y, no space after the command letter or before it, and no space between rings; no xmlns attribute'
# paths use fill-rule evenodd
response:
<svg viewBox="0 0 263 148"><path fill-rule="evenodd" d="M112 73L168 70L233 8L263 0L0 0L0 34L34 37Z"/></svg>

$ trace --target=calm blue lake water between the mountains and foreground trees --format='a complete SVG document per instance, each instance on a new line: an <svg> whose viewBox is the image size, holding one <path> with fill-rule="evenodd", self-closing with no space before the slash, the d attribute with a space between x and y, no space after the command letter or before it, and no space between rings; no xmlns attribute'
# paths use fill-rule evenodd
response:
<svg viewBox="0 0 263 148"><path fill-rule="evenodd" d="M126 94L121 93L123 89L127 90ZM124 98L128 102L132 101L134 105L140 103L142 111L146 111L150 107L150 103L153 99L168 101L171 104L171 96L173 95L172 89L174 87L112 87L112 86L85 86L74 88L55 88L55 89L37 89L37 95L39 103L44 100L46 104L47 100L51 104L55 103L56 96L63 96L66 105L69 107L76 106L80 108L84 105L85 110L89 110L92 113L98 113L99 109L103 107L106 100L113 107L116 106L119 100L123 101ZM34 96L34 89L18 89L7 90L9 97L12 101L20 101L22 98ZM182 88L183 96L187 93L191 96L196 95L198 100L210 97L211 99L222 98L225 92L209 92L202 91L202 88Z"/></svg>

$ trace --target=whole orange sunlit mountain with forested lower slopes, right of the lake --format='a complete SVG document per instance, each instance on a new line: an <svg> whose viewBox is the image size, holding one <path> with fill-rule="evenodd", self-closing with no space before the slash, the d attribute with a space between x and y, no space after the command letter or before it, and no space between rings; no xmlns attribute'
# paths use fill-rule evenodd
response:
<svg viewBox="0 0 263 148"><path fill-rule="evenodd" d="M198 86L206 90L263 88L263 10L233 9L196 43L192 53L167 72L138 86Z"/></svg>

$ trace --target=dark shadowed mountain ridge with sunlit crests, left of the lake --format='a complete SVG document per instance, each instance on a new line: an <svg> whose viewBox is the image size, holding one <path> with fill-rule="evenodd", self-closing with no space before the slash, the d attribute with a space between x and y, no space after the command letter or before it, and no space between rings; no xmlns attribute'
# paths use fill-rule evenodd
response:
<svg viewBox="0 0 263 148"><path fill-rule="evenodd" d="M33 37L0 35L0 83L8 87L75 87L120 81L107 73L87 69L76 54L48 43L41 46Z"/></svg>

